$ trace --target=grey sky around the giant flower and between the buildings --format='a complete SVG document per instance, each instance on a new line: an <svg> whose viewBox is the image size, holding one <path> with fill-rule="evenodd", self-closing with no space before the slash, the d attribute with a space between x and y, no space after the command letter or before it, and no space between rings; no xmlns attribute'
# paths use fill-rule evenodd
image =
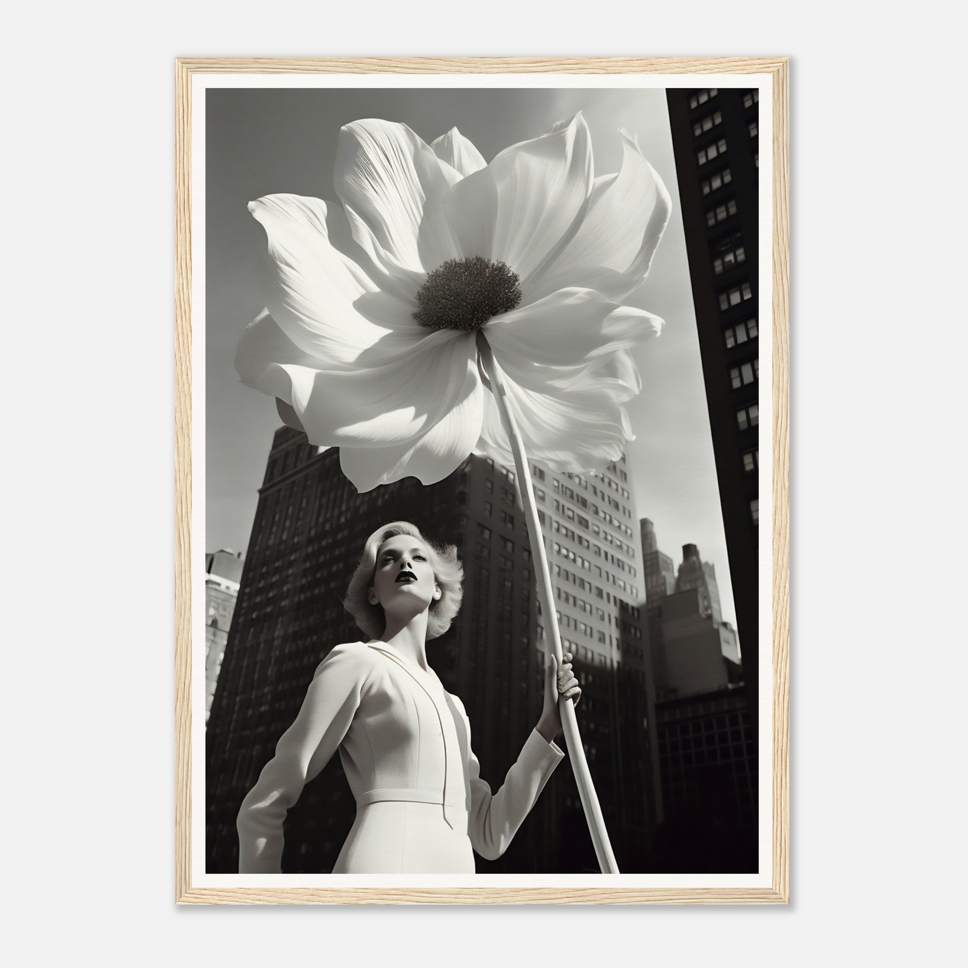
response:
<svg viewBox="0 0 968 968"><path fill-rule="evenodd" d="M734 622L726 540L689 285L679 188L661 89L223 89L206 105L206 550L245 551L272 436L274 402L232 366L242 331L262 309L265 234L250 200L276 193L337 201L342 125L378 117L430 142L456 126L488 162L581 110L596 175L620 166L619 129L638 136L665 182L673 214L649 277L625 301L665 319L635 350L642 393L626 408L636 438L626 459L636 511L677 565L681 546L715 565L723 618Z"/></svg>

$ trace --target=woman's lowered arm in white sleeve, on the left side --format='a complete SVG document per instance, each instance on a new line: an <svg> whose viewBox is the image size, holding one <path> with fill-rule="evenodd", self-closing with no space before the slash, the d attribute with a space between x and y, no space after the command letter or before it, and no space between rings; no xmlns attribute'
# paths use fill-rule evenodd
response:
<svg viewBox="0 0 968 968"><path fill-rule="evenodd" d="M303 787L329 762L360 703L369 651L337 646L319 664L295 722L239 810L239 873L281 873L283 822Z"/></svg>

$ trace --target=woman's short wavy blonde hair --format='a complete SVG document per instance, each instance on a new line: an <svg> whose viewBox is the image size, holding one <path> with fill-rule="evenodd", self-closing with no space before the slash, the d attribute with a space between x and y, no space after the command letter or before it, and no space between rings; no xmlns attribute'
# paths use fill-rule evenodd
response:
<svg viewBox="0 0 968 968"><path fill-rule="evenodd" d="M427 548L434 578L440 588L438 601L430 603L427 619L427 638L436 639L450 628L450 623L461 610L461 599L464 597L464 566L457 560L457 548L454 545L438 545L428 541L415 525L408 521L394 521L383 525L366 539L363 555L356 565L353 577L349 579L347 596L343 605L348 613L356 620L356 624L370 636L377 639L386 628L386 619L380 605L371 604L367 592L373 586L377 572L377 556L380 545L398 534L409 534L419 538Z"/></svg>

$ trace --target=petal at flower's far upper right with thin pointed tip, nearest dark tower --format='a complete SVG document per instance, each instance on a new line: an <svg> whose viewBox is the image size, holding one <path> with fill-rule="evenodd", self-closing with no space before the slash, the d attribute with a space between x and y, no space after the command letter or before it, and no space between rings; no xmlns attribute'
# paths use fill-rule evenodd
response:
<svg viewBox="0 0 968 968"><path fill-rule="evenodd" d="M533 280L533 295L587 286L620 299L649 272L672 202L636 140L622 131L618 174L595 180L587 211Z"/></svg>

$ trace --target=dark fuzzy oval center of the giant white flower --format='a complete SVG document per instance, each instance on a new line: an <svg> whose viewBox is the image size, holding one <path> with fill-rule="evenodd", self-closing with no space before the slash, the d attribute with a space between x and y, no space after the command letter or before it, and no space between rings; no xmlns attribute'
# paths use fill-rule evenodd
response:
<svg viewBox="0 0 968 968"><path fill-rule="evenodd" d="M431 329L480 329L521 302L521 279L503 262L449 258L417 292L413 318Z"/></svg>

